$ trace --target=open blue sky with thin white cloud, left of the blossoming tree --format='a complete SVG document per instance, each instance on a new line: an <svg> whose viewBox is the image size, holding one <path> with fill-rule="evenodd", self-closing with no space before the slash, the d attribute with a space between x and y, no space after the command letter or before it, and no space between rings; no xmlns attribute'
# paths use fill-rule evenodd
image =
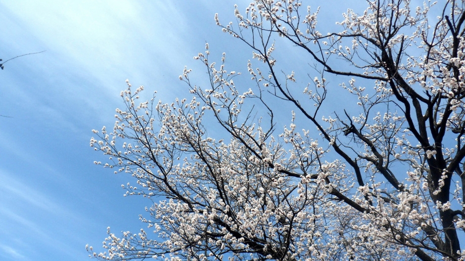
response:
<svg viewBox="0 0 465 261"><path fill-rule="evenodd" d="M113 125L126 79L167 102L188 97L178 76L185 65L202 76L192 57L206 42L246 72L251 50L213 19L233 20L234 3L248 5L0 0L0 58L45 50L0 71L0 260L88 260L86 244L100 247L107 226L143 227L139 214L150 202L123 197L130 177L93 165L105 158L89 146L92 129Z"/></svg>

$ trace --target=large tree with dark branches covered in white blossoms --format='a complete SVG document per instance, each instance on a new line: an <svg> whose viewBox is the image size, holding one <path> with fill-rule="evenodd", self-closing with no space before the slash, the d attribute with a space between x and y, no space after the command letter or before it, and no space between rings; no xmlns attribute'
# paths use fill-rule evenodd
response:
<svg viewBox="0 0 465 261"><path fill-rule="evenodd" d="M194 58L209 87L180 76L188 100L140 102L128 82L91 146L109 156L97 164L135 177L127 194L154 203L147 232L108 231L93 256L464 260L464 1L370 0L334 33L301 5L256 0L236 24L215 17L253 51L246 89L208 45ZM311 81L279 67L274 40L301 52Z"/></svg>

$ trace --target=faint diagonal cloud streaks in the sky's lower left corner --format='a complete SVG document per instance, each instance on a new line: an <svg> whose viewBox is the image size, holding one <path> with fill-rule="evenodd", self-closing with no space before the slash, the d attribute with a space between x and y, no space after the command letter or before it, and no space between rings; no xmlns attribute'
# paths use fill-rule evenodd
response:
<svg viewBox="0 0 465 261"><path fill-rule="evenodd" d="M85 254L84 248L71 247L73 242L80 241L81 235L73 234L76 226L90 223L86 217L67 209L65 206L50 198L49 195L31 187L19 177L7 174L0 169L0 223L2 234L7 241L0 237L1 250L10 255L31 256L31 253L21 254L16 251L37 251L31 249L33 245L53 250L62 255ZM39 186L41 187L41 186ZM66 238L66 240L63 240ZM27 243L24 243L23 241ZM15 247L23 246L26 250ZM12 244L9 244L12 243ZM76 253L77 252L77 253ZM19 257L19 256L18 256ZM12 259L14 260L14 259Z"/></svg>

